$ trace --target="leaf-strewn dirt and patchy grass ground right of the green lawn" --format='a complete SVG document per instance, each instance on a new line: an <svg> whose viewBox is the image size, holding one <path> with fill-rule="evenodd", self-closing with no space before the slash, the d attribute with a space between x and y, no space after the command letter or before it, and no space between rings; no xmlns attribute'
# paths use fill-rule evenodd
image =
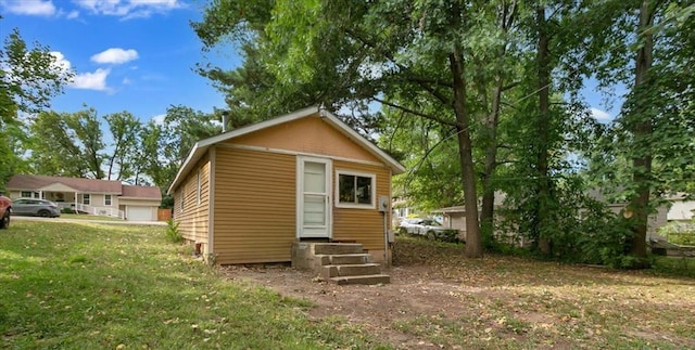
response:
<svg viewBox="0 0 695 350"><path fill-rule="evenodd" d="M503 256L466 259L462 249L400 242L386 285L334 285L287 265L223 271L311 300L311 317L344 317L397 349L695 347L692 278ZM635 333L639 324L648 334Z"/></svg>

